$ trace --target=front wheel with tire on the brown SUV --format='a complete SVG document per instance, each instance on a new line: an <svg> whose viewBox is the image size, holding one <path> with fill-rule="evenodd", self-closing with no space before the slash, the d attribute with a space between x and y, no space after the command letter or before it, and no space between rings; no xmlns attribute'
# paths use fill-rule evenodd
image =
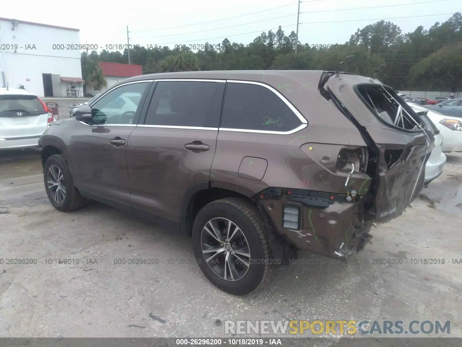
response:
<svg viewBox="0 0 462 347"><path fill-rule="evenodd" d="M67 162L61 154L51 155L45 162L43 182L48 198L56 210L70 212L85 206L85 198L74 187Z"/></svg>

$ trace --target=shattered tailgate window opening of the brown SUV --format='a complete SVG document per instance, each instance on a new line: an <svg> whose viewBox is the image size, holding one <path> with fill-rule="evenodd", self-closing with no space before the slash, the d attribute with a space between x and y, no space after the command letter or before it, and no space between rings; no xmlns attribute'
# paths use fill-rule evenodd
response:
<svg viewBox="0 0 462 347"><path fill-rule="evenodd" d="M391 88L377 85L359 85L357 91L386 123L406 130L421 130L425 123Z"/></svg>

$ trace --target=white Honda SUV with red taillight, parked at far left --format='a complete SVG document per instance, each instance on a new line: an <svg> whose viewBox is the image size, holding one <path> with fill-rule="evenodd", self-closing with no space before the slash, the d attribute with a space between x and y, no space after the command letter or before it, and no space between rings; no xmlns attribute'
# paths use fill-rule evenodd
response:
<svg viewBox="0 0 462 347"><path fill-rule="evenodd" d="M0 88L0 150L38 146L38 139L55 118L35 94Z"/></svg>

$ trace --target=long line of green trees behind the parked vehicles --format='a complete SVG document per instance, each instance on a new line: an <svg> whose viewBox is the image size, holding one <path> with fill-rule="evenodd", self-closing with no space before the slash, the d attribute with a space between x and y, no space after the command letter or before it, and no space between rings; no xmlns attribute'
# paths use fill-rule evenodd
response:
<svg viewBox="0 0 462 347"><path fill-rule="evenodd" d="M447 21L437 22L428 30L419 26L408 33L401 33L397 25L382 20L359 28L340 47L318 49L308 43L300 43L297 55L294 54L295 36L293 31L286 35L279 26L277 31L262 32L247 44L231 42L225 38L218 49L208 43L203 50L197 52L193 52L188 46L177 46L173 50L167 46L135 47L130 50L130 60L134 64L142 65L145 74L195 70L339 68L376 77L398 90L411 87L435 90L447 88L448 83L453 86L453 82L447 82L446 77L443 81L442 75L438 74L432 74L432 78L427 75L424 80L420 76L420 81L417 82L417 72L423 65L415 69L414 67L420 62L423 64L423 59L441 48L455 47L458 42L462 42L462 16L456 12ZM339 62L351 55L354 55L353 59L339 67ZM82 56L82 74L85 81L93 74L98 61L128 63L128 51L121 53L103 50L99 55L92 51L89 55ZM376 71L379 67L379 71ZM407 78L411 70L413 77ZM97 80L97 73L91 79Z"/></svg>

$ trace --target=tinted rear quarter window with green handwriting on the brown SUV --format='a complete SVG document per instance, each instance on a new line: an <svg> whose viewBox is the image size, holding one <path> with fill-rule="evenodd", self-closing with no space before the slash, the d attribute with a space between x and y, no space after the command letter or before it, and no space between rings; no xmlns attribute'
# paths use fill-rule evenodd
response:
<svg viewBox="0 0 462 347"><path fill-rule="evenodd" d="M286 132L301 124L289 105L267 87L227 83L220 128Z"/></svg>

